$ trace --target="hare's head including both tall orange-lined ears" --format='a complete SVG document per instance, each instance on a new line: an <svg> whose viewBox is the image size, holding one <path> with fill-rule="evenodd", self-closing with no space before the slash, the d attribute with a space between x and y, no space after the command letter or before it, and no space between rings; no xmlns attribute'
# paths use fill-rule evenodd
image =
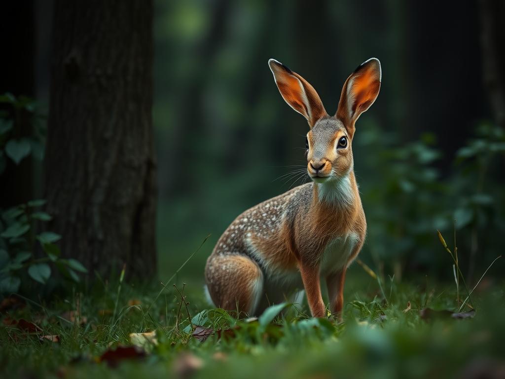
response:
<svg viewBox="0 0 505 379"><path fill-rule="evenodd" d="M316 90L304 78L274 59L268 64L286 103L309 122L306 140L309 176L316 182L324 182L349 173L356 120L379 94L379 60L371 58L350 74L334 116L326 113Z"/></svg>

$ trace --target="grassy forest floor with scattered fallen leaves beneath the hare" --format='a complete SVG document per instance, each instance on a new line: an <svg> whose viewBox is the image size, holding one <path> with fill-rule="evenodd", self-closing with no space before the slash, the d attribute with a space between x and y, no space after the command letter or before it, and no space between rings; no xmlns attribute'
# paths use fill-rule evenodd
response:
<svg viewBox="0 0 505 379"><path fill-rule="evenodd" d="M163 290L117 279L50 304L7 298L0 376L505 377L503 279L483 280L475 310L460 311L454 285L354 276L341 323L310 318L306 304L237 320L209 310L190 283Z"/></svg>

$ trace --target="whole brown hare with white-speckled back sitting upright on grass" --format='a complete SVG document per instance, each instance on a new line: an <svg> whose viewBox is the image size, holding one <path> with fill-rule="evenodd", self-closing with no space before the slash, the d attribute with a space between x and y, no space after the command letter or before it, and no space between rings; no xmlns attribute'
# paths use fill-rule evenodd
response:
<svg viewBox="0 0 505 379"><path fill-rule="evenodd" d="M306 154L312 181L246 210L231 223L207 260L207 295L216 306L257 315L303 286L312 315L325 317L323 277L330 311L341 318L345 271L367 229L352 138L356 120L379 94L380 62L371 58L350 74L334 116L304 78L274 59L268 64L285 102L309 123Z"/></svg>

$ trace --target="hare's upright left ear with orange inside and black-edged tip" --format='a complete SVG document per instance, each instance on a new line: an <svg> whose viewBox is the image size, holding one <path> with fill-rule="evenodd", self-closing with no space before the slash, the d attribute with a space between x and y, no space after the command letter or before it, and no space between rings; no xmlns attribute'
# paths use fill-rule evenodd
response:
<svg viewBox="0 0 505 379"><path fill-rule="evenodd" d="M274 74L275 83L282 98L291 108L307 119L311 128L316 121L327 116L319 95L307 80L275 59L270 59L268 65Z"/></svg>

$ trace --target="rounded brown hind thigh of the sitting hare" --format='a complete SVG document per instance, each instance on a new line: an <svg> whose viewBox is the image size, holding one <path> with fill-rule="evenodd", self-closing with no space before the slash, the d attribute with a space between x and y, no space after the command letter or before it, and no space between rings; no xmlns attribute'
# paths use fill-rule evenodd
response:
<svg viewBox="0 0 505 379"><path fill-rule="evenodd" d="M255 313L263 294L263 273L243 255L211 255L205 267L207 289L220 308Z"/></svg>

